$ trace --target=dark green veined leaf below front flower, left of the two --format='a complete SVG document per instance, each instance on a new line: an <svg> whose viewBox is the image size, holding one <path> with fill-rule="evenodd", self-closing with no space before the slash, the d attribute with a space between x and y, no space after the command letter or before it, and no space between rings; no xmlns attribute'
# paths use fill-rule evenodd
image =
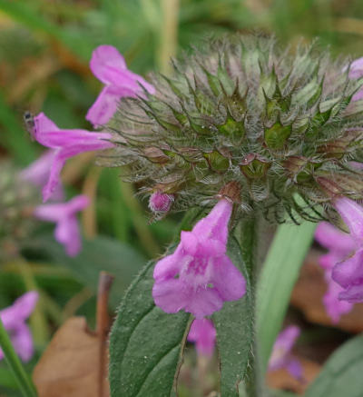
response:
<svg viewBox="0 0 363 397"><path fill-rule="evenodd" d="M170 397L189 332L190 314L163 313L152 299L148 263L123 298L110 338L112 397Z"/></svg>

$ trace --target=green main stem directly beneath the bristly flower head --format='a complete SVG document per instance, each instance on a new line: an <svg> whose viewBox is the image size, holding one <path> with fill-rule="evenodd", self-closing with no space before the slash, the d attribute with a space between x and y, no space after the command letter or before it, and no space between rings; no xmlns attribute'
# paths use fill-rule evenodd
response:
<svg viewBox="0 0 363 397"><path fill-rule="evenodd" d="M251 217L241 221L240 228L236 231L236 238L240 243L240 251L248 273L250 275L251 305L253 308L253 327L255 327L256 308L256 284L257 284L257 263L256 250L258 243L257 217ZM256 341L256 332L253 332L250 346L249 366L245 377L245 392L249 397L260 397L263 394L263 377L260 372L259 352Z"/></svg>

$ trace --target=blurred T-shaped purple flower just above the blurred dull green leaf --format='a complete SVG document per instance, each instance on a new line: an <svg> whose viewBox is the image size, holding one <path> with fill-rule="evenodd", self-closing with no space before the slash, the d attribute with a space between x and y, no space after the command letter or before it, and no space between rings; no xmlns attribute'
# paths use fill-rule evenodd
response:
<svg viewBox="0 0 363 397"><path fill-rule="evenodd" d="M81 250L81 236L76 213L89 204L85 195L77 195L68 203L43 204L34 209L34 216L43 221L55 222L55 240L64 244L69 256Z"/></svg>

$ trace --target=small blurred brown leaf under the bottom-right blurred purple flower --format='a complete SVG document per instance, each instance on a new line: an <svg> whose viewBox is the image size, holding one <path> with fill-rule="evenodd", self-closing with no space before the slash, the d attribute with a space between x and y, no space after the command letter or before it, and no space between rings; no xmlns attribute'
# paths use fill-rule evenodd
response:
<svg viewBox="0 0 363 397"><path fill-rule="evenodd" d="M286 370L270 371L267 374L267 384L271 389L280 389L287 392L303 394L309 384L317 377L320 366L316 362L299 357L302 366L304 381L298 381Z"/></svg>

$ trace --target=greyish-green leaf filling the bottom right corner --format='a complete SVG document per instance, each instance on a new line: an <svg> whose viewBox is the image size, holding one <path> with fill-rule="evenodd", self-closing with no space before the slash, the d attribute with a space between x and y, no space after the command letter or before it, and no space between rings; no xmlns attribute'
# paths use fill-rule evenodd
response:
<svg viewBox="0 0 363 397"><path fill-rule="evenodd" d="M363 335L339 347L310 384L305 397L360 397L363 391Z"/></svg>

